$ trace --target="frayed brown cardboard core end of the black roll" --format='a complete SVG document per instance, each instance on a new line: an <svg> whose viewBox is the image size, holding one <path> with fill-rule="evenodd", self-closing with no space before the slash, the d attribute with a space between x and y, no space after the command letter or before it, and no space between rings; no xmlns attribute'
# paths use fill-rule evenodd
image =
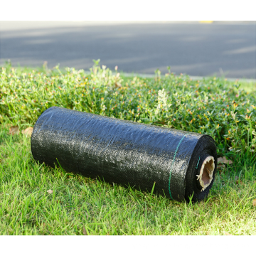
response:
<svg viewBox="0 0 256 256"><path fill-rule="evenodd" d="M214 158L213 156L208 156L206 159L203 161L203 164L201 166L200 174L197 175L197 179L200 182L200 185L202 186L202 190L204 191L211 183L213 180L213 171L215 168L214 164Z"/></svg>

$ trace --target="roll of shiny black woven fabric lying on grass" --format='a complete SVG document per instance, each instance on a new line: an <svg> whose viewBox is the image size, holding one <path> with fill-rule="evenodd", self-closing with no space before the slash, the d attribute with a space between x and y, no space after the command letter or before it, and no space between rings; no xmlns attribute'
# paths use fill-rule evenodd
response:
<svg viewBox="0 0 256 256"><path fill-rule="evenodd" d="M143 191L154 186L154 192L176 201L206 198L217 166L208 135L62 107L50 107L38 118L31 151L41 163Z"/></svg>

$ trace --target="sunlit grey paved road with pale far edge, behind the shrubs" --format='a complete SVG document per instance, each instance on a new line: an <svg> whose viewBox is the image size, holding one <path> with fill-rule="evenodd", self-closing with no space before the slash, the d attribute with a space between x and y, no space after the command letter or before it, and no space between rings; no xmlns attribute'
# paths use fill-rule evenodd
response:
<svg viewBox="0 0 256 256"><path fill-rule="evenodd" d="M256 78L255 23L0 21L0 65Z"/></svg>

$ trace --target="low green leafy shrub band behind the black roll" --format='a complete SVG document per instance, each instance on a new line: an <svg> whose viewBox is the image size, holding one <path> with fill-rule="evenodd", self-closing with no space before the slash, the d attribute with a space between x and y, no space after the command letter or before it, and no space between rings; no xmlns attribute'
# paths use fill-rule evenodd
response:
<svg viewBox="0 0 256 256"><path fill-rule="evenodd" d="M1 68L0 122L35 124L51 106L92 112L212 136L218 154L256 151L256 94L220 78L201 81L156 72L154 79L122 78L99 61L90 69L24 73Z"/></svg>

